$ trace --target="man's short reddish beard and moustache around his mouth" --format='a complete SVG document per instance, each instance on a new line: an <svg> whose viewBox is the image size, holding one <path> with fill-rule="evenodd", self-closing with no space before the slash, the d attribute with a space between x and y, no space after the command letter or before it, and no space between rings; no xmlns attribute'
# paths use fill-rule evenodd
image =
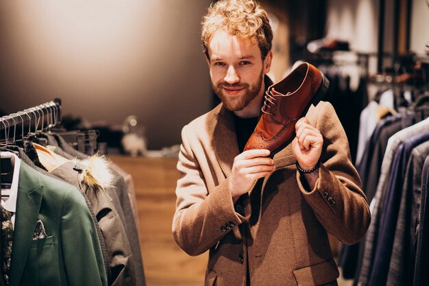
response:
<svg viewBox="0 0 429 286"><path fill-rule="evenodd" d="M225 81L218 82L216 85L212 83L213 91L221 99L223 106L230 111L243 110L252 100L258 96L260 88L262 87L263 70L260 71L260 76L256 84L250 86L249 84L227 84ZM238 97L230 97L223 94L223 87L225 88L243 88L244 95Z"/></svg>

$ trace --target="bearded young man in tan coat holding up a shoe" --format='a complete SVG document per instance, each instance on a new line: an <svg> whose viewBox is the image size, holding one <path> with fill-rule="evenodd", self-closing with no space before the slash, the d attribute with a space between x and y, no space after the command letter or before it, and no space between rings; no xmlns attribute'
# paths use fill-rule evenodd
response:
<svg viewBox="0 0 429 286"><path fill-rule="evenodd" d="M370 214L334 109L312 106L273 158L243 152L272 84L267 13L252 0L217 1L201 38L222 103L182 130L175 241L191 255L210 250L205 285L336 285L327 231L356 243Z"/></svg>

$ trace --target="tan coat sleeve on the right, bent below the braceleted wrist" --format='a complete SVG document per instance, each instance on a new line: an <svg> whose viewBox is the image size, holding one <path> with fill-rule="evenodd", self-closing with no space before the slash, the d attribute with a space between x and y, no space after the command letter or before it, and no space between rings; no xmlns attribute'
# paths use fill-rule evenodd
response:
<svg viewBox="0 0 429 286"><path fill-rule="evenodd" d="M308 191L297 171L297 182L319 222L343 243L362 239L371 221L360 177L350 158L350 147L334 108L321 102L315 127L323 135L321 167L316 186Z"/></svg>

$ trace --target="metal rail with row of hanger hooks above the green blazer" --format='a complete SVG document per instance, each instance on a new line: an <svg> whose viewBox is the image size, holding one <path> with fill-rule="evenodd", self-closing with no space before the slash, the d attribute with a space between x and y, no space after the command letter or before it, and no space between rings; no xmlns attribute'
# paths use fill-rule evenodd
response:
<svg viewBox="0 0 429 286"><path fill-rule="evenodd" d="M16 139L16 137L31 134L32 128L36 132L45 128L59 126L60 123L61 99L56 98L51 102L0 117L0 142L4 141L8 145L12 127L14 127L13 138Z"/></svg>

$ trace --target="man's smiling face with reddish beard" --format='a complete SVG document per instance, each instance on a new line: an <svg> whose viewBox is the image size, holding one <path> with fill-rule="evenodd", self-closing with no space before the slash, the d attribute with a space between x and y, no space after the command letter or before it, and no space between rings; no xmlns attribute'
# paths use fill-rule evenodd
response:
<svg viewBox="0 0 429 286"><path fill-rule="evenodd" d="M243 110L256 97L262 98L263 75L269 64L267 68L257 44L218 30L210 40L208 54L213 91L228 110Z"/></svg>

